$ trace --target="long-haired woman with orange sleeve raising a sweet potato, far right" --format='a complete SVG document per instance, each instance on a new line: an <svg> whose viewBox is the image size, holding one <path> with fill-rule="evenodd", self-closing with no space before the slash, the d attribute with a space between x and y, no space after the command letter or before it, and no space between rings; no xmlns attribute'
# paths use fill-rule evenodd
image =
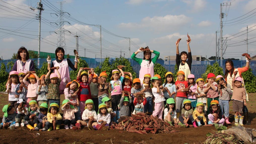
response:
<svg viewBox="0 0 256 144"><path fill-rule="evenodd" d="M231 91L233 92L233 87L232 87L232 78L234 77L234 71L238 71L236 77L240 76L242 77L242 73L245 71L249 70L249 60L246 58L246 65L243 68L234 68L234 64L232 60L227 60L225 62L225 80L227 81L227 83L231 86ZM244 81L243 81L244 83ZM245 87L244 87L245 88ZM232 94L232 93L231 93ZM246 101L249 101L248 99L248 94L246 93ZM250 119L249 119L249 115L248 115L248 109L246 106L243 107L243 113L244 113L244 117L246 118L246 125L250 125Z"/></svg>

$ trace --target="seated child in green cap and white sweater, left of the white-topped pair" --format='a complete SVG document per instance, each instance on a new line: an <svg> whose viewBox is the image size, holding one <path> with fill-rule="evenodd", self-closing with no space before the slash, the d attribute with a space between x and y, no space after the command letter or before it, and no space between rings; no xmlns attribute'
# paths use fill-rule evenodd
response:
<svg viewBox="0 0 256 144"><path fill-rule="evenodd" d="M88 127L89 130L94 130L95 128L93 128L93 126L97 125L97 123L93 123L93 121L97 121L97 113L94 110L92 99L87 99L82 114L82 120L77 121L76 126L73 126L73 130L81 129L81 125Z"/></svg>

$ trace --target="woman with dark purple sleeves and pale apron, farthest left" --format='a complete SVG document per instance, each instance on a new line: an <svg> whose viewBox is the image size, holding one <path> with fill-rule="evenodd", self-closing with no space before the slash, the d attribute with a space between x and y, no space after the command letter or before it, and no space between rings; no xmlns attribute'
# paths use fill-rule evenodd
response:
<svg viewBox="0 0 256 144"><path fill-rule="evenodd" d="M18 73L26 73L28 71L35 70L34 61L29 59L28 50L25 47L20 47L17 52L17 61L14 62L13 68L11 71L17 71ZM6 87L8 86L9 81L6 83Z"/></svg>

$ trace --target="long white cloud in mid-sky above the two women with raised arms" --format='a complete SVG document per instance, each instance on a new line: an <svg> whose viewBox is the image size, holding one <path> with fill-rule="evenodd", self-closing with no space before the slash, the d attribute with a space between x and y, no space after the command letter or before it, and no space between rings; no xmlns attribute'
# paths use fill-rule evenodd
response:
<svg viewBox="0 0 256 144"><path fill-rule="evenodd" d="M153 30L162 31L176 29L186 25L190 21L190 18L185 15L165 15L145 17L140 23L121 23L121 28L141 29L152 28Z"/></svg>

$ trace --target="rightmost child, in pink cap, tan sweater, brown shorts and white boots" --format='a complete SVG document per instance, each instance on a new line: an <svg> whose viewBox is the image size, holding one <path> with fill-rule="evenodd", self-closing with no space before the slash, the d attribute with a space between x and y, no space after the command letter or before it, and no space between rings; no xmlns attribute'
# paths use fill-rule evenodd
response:
<svg viewBox="0 0 256 144"><path fill-rule="evenodd" d="M242 85L243 79L236 77L238 71L234 71L234 77L232 79L233 95L233 111L235 112L235 125L239 124L243 126L243 106L246 106L246 91ZM235 78L236 77L236 78Z"/></svg>

